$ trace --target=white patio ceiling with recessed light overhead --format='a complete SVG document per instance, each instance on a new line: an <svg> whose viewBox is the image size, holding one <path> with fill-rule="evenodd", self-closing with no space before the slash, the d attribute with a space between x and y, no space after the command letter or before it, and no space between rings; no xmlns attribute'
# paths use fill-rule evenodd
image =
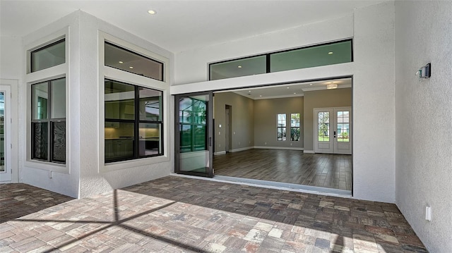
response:
<svg viewBox="0 0 452 253"><path fill-rule="evenodd" d="M178 53L346 16L381 1L0 1L0 35L23 37L80 9ZM157 14L151 16L148 10Z"/></svg>

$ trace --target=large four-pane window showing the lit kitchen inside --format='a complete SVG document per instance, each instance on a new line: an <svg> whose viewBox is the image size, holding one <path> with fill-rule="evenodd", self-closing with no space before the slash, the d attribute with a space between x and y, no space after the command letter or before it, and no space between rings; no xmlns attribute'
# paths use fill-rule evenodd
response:
<svg viewBox="0 0 452 253"><path fill-rule="evenodd" d="M105 162L160 156L162 92L105 80Z"/></svg>

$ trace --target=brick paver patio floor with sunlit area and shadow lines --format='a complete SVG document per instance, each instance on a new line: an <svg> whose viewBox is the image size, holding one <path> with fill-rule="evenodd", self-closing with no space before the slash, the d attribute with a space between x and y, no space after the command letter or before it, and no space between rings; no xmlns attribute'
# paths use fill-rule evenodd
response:
<svg viewBox="0 0 452 253"><path fill-rule="evenodd" d="M427 252L395 204L176 176L85 199L1 185L0 204L0 252Z"/></svg>

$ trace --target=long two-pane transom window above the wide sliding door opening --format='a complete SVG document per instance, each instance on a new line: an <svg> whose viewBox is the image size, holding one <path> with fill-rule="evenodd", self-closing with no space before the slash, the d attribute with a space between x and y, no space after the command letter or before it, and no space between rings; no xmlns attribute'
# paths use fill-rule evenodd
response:
<svg viewBox="0 0 452 253"><path fill-rule="evenodd" d="M353 61L352 39L209 64L209 80Z"/></svg>

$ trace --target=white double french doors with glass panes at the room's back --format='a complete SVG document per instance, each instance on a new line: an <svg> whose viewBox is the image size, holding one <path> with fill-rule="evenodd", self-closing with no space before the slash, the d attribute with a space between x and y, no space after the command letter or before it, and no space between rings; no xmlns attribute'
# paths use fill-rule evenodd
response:
<svg viewBox="0 0 452 253"><path fill-rule="evenodd" d="M350 107L314 109L314 152L352 154Z"/></svg>

